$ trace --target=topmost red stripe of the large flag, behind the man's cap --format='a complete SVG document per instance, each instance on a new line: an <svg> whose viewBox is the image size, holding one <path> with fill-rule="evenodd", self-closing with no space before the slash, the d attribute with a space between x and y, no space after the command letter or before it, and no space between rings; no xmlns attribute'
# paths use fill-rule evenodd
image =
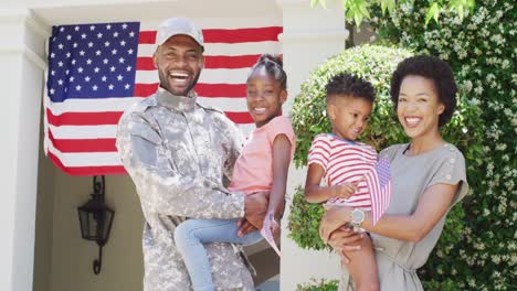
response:
<svg viewBox="0 0 517 291"><path fill-rule="evenodd" d="M208 29L202 30L204 43L244 43L244 42L277 42L282 26L251 28L251 29ZM154 44L156 31L140 31L138 43Z"/></svg>

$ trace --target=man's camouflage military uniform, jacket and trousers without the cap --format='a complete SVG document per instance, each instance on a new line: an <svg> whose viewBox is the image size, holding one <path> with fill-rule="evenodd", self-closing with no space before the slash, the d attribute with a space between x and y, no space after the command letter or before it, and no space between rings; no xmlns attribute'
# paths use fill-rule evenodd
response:
<svg viewBox="0 0 517 291"><path fill-rule="evenodd" d="M239 129L222 112L188 97L158 91L127 109L117 148L140 198L146 291L188 291L187 269L173 231L187 217L244 215L244 195L229 193L241 150ZM230 244L205 246L218 290L253 290L246 263Z"/></svg>

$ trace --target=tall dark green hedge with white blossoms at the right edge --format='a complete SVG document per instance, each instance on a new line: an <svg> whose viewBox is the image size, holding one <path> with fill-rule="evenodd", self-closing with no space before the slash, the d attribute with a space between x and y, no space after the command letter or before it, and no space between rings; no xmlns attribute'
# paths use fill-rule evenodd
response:
<svg viewBox="0 0 517 291"><path fill-rule="evenodd" d="M477 128L482 146L462 148L472 190L463 203L464 217L457 217L462 225L453 231L447 226L420 272L425 290L515 290L517 285L515 3L479 0L463 22L455 14L443 14L425 26L426 1L408 1L390 18L372 19L382 42L445 60L462 96L482 109L481 119L467 114L463 121Z"/></svg>

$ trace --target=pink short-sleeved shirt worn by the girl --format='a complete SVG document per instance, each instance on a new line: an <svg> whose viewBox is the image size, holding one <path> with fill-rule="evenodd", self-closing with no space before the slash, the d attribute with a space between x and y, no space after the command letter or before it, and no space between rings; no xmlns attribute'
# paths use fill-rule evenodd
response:
<svg viewBox="0 0 517 291"><path fill-rule="evenodd" d="M256 128L247 138L233 168L230 191L251 194L271 191L273 185L273 141L285 134L291 141L291 159L295 151L295 134L291 120L285 116L273 118Z"/></svg>

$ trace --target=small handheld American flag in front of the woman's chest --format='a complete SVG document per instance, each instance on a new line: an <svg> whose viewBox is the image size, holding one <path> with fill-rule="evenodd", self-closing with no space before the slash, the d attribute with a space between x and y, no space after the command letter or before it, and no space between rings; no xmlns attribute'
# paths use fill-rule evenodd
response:
<svg viewBox="0 0 517 291"><path fill-rule="evenodd" d="M388 159L379 159L372 171L365 174L365 179L370 192L371 220L376 225L391 200L391 169Z"/></svg>

